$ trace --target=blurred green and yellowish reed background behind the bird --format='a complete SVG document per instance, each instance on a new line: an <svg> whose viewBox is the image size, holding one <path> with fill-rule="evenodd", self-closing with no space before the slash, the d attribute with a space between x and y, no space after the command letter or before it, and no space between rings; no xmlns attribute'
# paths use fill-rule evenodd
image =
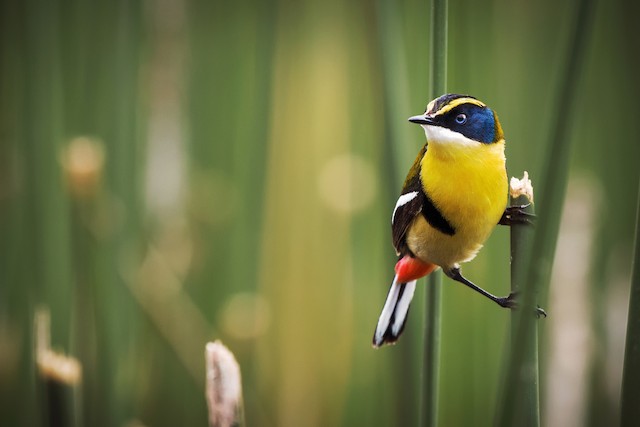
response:
<svg viewBox="0 0 640 427"><path fill-rule="evenodd" d="M541 320L544 425L613 425L640 160L637 2L596 5ZM450 92L541 171L572 1L450 2ZM429 2L25 0L0 5L0 417L46 416L34 315L83 368L91 426L206 425L204 345L250 426L415 425L424 292L371 335L389 218L423 144ZM394 140L391 135L404 135ZM406 168L397 170L395 164ZM508 293L508 230L464 271ZM440 424L491 425L509 314L443 280Z"/></svg>

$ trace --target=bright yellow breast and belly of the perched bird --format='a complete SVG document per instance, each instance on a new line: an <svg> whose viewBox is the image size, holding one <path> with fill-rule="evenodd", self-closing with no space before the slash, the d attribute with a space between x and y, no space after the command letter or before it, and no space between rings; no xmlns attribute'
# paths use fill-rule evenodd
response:
<svg viewBox="0 0 640 427"><path fill-rule="evenodd" d="M444 269L473 259L507 206L504 141L472 147L429 144L421 179L433 204L456 230L450 236L418 215L407 231L409 249Z"/></svg>

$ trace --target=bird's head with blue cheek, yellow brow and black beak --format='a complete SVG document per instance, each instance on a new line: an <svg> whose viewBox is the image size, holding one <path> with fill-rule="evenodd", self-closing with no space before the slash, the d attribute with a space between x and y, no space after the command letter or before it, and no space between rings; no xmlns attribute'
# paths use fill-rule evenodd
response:
<svg viewBox="0 0 640 427"><path fill-rule="evenodd" d="M424 128L429 143L468 146L504 140L498 116L469 95L442 95L427 105L424 114L409 121Z"/></svg>

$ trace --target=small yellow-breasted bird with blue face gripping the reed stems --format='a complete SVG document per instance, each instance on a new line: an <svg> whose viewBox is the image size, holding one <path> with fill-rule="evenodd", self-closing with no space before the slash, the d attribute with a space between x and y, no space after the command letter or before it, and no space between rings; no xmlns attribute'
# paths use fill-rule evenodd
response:
<svg viewBox="0 0 640 427"><path fill-rule="evenodd" d="M417 279L438 267L502 307L515 295L496 297L462 276L497 224L521 210L507 209L505 140L498 116L469 95L447 94L409 121L427 142L409 170L391 216L398 255L395 277L378 319L373 346L395 343L404 329Z"/></svg>

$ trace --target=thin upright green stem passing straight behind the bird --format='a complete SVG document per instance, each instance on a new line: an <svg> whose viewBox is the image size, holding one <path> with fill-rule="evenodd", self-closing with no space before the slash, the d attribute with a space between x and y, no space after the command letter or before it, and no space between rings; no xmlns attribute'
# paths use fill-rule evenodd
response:
<svg viewBox="0 0 640 427"><path fill-rule="evenodd" d="M433 0L431 3L430 98L435 98L446 91L447 19L447 0ZM421 425L423 426L436 426L438 423L441 283L440 270L431 273L427 278L422 361Z"/></svg>

